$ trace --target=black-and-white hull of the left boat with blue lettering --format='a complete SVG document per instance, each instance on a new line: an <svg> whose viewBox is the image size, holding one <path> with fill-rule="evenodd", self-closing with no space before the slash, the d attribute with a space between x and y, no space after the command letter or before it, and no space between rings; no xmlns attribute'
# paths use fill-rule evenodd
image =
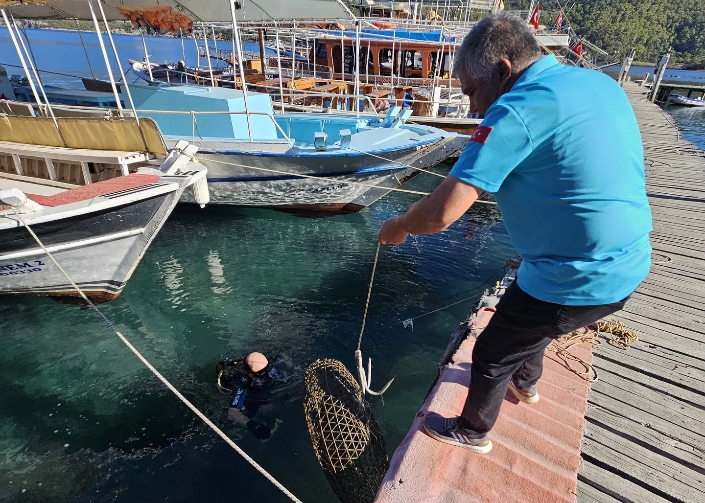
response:
<svg viewBox="0 0 705 503"><path fill-rule="evenodd" d="M182 191L30 227L88 297L114 299ZM23 226L0 235L0 294L79 297Z"/></svg>

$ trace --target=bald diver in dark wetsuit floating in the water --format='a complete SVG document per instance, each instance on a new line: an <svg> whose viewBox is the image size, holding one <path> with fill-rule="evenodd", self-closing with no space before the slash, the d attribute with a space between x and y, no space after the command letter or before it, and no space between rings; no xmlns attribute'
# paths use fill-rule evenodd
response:
<svg viewBox="0 0 705 503"><path fill-rule="evenodd" d="M264 403L262 387L270 370L271 365L262 353L250 353L244 359L228 357L216 367L218 389L232 397L228 418L245 426L260 440L271 436L271 430L254 419Z"/></svg>

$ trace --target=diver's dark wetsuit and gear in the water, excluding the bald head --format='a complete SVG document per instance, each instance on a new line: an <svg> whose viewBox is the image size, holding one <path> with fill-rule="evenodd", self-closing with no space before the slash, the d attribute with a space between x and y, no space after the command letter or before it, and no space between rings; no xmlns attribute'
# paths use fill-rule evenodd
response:
<svg viewBox="0 0 705 503"><path fill-rule="evenodd" d="M268 369L253 376L244 359L227 358L218 364L216 370L218 371L218 386L221 390L232 393L231 408L238 409L250 419L245 426L252 431L255 437L260 440L268 439L271 436L271 430L253 419L259 407L264 403L262 390L259 388L262 387L261 381L266 378Z"/></svg>

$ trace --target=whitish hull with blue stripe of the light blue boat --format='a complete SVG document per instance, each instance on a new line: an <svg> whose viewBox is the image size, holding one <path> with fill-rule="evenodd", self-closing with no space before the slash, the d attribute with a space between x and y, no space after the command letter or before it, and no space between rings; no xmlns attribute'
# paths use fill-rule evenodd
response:
<svg viewBox="0 0 705 503"><path fill-rule="evenodd" d="M257 155L201 148L199 159L208 168L211 204L355 213L421 173L416 168L436 166L468 141L448 135L379 156ZM190 194L182 200L190 201Z"/></svg>

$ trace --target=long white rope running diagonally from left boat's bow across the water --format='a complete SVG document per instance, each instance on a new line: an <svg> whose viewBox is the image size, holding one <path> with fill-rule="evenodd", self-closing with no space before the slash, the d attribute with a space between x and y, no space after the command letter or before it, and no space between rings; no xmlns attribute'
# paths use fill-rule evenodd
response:
<svg viewBox="0 0 705 503"><path fill-rule="evenodd" d="M11 205L11 206L17 206L17 205ZM262 473L262 475L264 475L264 477L267 480L269 480L269 482L274 484L276 486L276 488L278 488L278 490L281 490L281 492L283 492L285 495L287 495L293 502L302 503L300 499L295 497L287 488L285 488L283 485L281 485L281 483L279 483L278 480L276 480L276 478L271 476L268 471L266 471L264 468L262 468L262 466L259 466L257 461L255 461L250 456L248 456L247 453L245 451L243 451L243 449L240 449L240 447L238 447L238 445L235 444L235 442L233 442L233 440L231 440L231 438L228 437L228 435L223 433L223 431L220 428L218 428L218 426L216 426L209 418L207 418L200 410L198 410L194 404L189 402L189 400L186 397L181 395L179 390L177 390L176 387L174 387L171 383L169 383L169 381L166 380L164 375L161 375L161 373L159 373L159 371L156 368L154 368L154 366L152 366L152 364L150 364L149 361L147 361L147 359L144 356L142 356L142 354L139 351L137 351L137 349L130 343L130 341L128 341L125 338L125 336L122 335L118 331L117 328L115 328L115 325L113 325L111 323L111 321L102 313L102 311L100 311L100 309L98 309L97 306L95 304L93 304L93 302L91 302L91 300L86 296L86 294L83 292L83 290L81 290L80 287L75 284L73 279L71 279L71 276L69 276L68 273L66 273L66 271L63 270L63 268L59 265L59 262L57 262L56 259L54 259L54 255L52 255L49 252L49 250L47 249L47 247L44 246L42 241L39 240L39 237L37 237L35 232L30 228L29 225L27 225L27 223L24 221L22 216L20 216L20 213L18 213L17 209L13 209L13 210L15 211L15 215L17 216L20 223L22 223L22 225L25 226L25 229L27 229L27 232L29 232L30 235L32 235L34 240L37 242L37 244L39 244L39 247L41 247L42 250L44 250L44 253L46 253L47 256L49 256L49 259L51 259L51 261L54 262L54 265L56 266L56 268L58 268L59 271L61 271L61 273L66 277L68 282L71 283L71 286L73 286L74 289L76 290L76 292L78 292L78 294L80 294L82 299L85 300L85 302L89 306L91 306L94 309L94 311L96 311L96 313L98 313L98 315L103 319L103 321L106 323L106 325L108 325L109 328L111 328L116 333L116 335L118 337L120 337L120 340L122 340L125 343L125 345L128 348L130 348L130 351L133 352L135 354L135 356L137 356L137 358L139 358L140 361L142 361L142 363L145 364L145 366L147 368L149 368L149 370L152 371L152 373L154 375L156 375L157 378L159 378L159 380L161 380L161 382L164 383L164 385L166 387L168 387L168 389L171 392L173 392L174 395L176 395L178 397L178 399L181 400L181 402L183 402L186 406L188 406L188 408L191 409L193 411L193 413L196 414L196 416L201 418L201 420L204 423L206 423L215 433L217 433L219 435L219 437L221 437L223 440L225 440L228 443L228 445L230 445L230 447L233 447L233 449L235 449L235 451L238 452L238 454L240 454L240 456L245 458L245 461L247 461L252 466L254 466L255 469L257 471L259 471L259 473Z"/></svg>

